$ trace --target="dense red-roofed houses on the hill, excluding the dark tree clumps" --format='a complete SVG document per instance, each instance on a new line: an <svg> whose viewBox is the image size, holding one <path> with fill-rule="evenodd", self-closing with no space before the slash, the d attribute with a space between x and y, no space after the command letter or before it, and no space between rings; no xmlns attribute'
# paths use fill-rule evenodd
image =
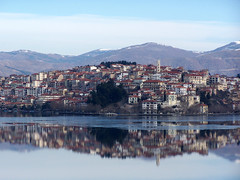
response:
<svg viewBox="0 0 240 180"><path fill-rule="evenodd" d="M65 109L87 106L90 92L98 84L113 79L128 93L128 104L141 107L143 114L159 114L162 109L174 111L199 107L207 113L197 91L213 94L228 91L233 94L233 109L240 109L240 79L210 75L208 70L185 70L156 65L103 64L75 67L68 70L39 72L31 75L12 74L0 77L0 108L34 108L55 102Z"/></svg>

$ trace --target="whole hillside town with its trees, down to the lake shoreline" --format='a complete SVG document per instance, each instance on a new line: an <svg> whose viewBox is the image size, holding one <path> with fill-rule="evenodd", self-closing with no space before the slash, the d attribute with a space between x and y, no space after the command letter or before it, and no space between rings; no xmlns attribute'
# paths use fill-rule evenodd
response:
<svg viewBox="0 0 240 180"><path fill-rule="evenodd" d="M106 90L110 81L115 94ZM100 94L105 90L106 97ZM125 95L116 98L122 90ZM240 78L211 75L206 69L161 66L160 60L156 65L102 62L0 77L0 109L138 115L236 113L240 110Z"/></svg>

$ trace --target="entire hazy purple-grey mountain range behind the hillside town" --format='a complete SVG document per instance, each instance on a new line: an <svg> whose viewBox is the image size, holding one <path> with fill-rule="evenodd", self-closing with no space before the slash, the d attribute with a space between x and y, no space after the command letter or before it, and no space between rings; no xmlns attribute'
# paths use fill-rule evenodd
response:
<svg viewBox="0 0 240 180"><path fill-rule="evenodd" d="M125 60L156 64L158 59L163 66L209 69L211 74L236 76L240 73L240 41L207 52L187 51L152 42L117 50L98 49L78 56L43 54L29 50L0 52L0 76L98 65L103 61Z"/></svg>

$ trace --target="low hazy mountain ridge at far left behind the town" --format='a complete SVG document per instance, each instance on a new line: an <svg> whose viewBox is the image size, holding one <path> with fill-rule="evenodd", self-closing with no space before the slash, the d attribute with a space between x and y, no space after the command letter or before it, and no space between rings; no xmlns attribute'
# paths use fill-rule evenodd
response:
<svg viewBox="0 0 240 180"><path fill-rule="evenodd" d="M0 75L31 74L52 69L72 67L67 59L58 54L42 54L29 50L0 52Z"/></svg>

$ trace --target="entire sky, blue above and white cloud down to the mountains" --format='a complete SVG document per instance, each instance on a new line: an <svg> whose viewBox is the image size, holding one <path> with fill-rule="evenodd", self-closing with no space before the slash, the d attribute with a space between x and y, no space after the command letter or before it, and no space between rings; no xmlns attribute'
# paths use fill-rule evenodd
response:
<svg viewBox="0 0 240 180"><path fill-rule="evenodd" d="M240 40L240 0L0 0L0 51L79 55L156 42L208 51Z"/></svg>

